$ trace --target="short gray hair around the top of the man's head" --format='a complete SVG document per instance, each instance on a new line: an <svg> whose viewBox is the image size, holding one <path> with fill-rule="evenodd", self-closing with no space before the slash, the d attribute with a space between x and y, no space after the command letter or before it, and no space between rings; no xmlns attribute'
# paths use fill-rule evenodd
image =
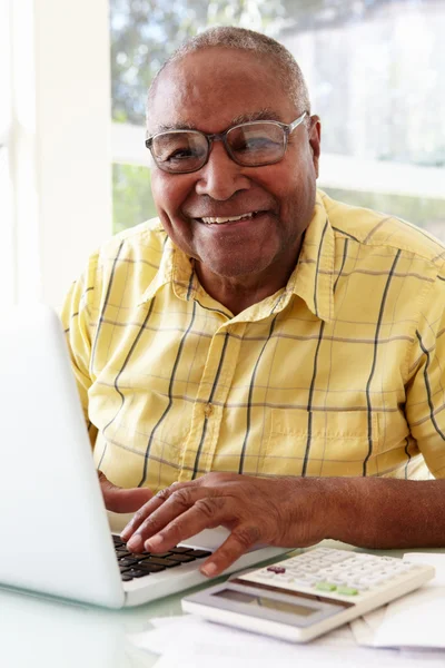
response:
<svg viewBox="0 0 445 668"><path fill-rule="evenodd" d="M299 114L307 111L310 116L309 94L306 81L298 63L294 56L278 41L271 37L267 37L261 32L246 30L245 28L236 28L235 26L209 28L205 32L192 37L190 40L179 47L166 60L160 70L157 72L147 97L147 117L150 100L155 94L157 82L161 72L171 63L178 62L189 53L201 49L212 47L225 47L227 49L237 49L240 51L251 51L259 56L269 58L278 69L278 78L284 89L287 90L289 98L298 109Z"/></svg>

